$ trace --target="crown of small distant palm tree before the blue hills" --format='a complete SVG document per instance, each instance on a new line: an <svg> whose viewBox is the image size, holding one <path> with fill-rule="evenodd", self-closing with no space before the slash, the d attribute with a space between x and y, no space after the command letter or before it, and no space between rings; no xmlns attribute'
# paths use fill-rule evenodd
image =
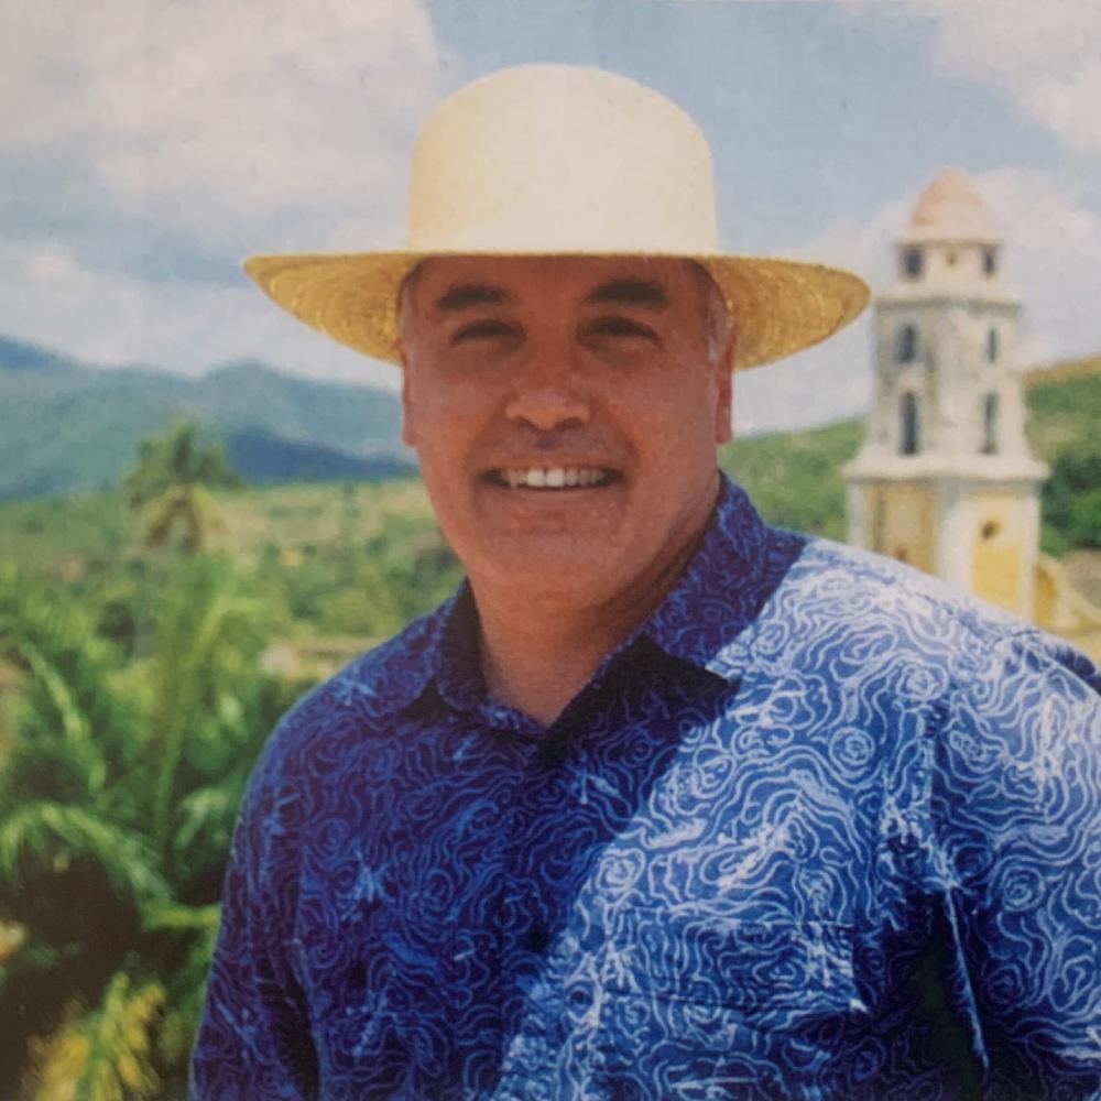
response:
<svg viewBox="0 0 1101 1101"><path fill-rule="evenodd" d="M221 448L200 446L198 426L184 421L162 438L142 440L126 491L130 506L144 514L146 546L163 545L179 527L184 553L195 554L220 526L218 503L210 490L240 484Z"/></svg>

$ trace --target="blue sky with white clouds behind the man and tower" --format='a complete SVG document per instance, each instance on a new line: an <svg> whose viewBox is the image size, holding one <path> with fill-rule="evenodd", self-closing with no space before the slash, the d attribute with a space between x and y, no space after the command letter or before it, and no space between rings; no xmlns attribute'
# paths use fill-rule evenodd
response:
<svg viewBox="0 0 1101 1101"><path fill-rule="evenodd" d="M241 274L397 247L419 120L506 65L597 65L710 143L721 244L891 281L962 168L1023 367L1101 352L1101 0L36 0L0 7L0 335L101 366L395 386ZM735 380L739 432L861 412L868 316Z"/></svg>

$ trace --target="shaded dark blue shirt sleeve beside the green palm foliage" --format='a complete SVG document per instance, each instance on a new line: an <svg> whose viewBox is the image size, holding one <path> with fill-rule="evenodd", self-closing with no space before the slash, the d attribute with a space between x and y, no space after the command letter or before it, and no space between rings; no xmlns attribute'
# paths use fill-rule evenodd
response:
<svg viewBox="0 0 1101 1101"><path fill-rule="evenodd" d="M273 739L274 741L274 739ZM316 1095L305 1000L286 958L295 909L293 795L265 753L242 803L192 1051L190 1101Z"/></svg>

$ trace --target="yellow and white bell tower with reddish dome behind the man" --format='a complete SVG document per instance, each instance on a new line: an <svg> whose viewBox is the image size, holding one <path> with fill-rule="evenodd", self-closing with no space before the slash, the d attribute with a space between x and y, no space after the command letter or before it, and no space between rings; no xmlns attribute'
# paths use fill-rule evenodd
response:
<svg viewBox="0 0 1101 1101"><path fill-rule="evenodd" d="M1024 434L1021 303L957 170L922 192L874 307L874 401L846 467L849 542L1032 619L1039 487Z"/></svg>

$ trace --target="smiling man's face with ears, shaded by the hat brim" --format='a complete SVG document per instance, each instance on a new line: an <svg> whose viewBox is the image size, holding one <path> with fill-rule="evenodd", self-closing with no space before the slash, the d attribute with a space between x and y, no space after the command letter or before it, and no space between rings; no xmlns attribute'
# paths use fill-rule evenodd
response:
<svg viewBox="0 0 1101 1101"><path fill-rule="evenodd" d="M403 439L475 585L599 608L676 567L718 487L704 281L645 258L435 258L406 290Z"/></svg>

